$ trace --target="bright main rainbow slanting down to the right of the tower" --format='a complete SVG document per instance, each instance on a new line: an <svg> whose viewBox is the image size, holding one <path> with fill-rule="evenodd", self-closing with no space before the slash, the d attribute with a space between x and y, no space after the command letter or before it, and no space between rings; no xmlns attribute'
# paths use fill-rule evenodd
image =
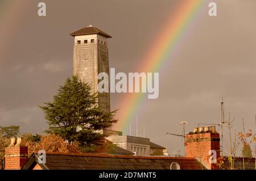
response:
<svg viewBox="0 0 256 181"><path fill-rule="evenodd" d="M155 39L158 41L147 50L146 56L142 58L142 65L139 66L141 72L159 72L164 62L170 61L171 54L180 43L179 40L205 2L205 0L180 2L178 9L171 13L171 18L168 19L163 31L159 33L160 36ZM127 94L119 106L119 121L114 125L113 130L126 131L144 99L146 99L145 94Z"/></svg>

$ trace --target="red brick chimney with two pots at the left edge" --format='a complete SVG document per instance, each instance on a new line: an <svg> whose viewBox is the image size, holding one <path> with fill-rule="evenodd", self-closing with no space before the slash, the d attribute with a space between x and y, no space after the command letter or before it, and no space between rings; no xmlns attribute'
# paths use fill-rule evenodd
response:
<svg viewBox="0 0 256 181"><path fill-rule="evenodd" d="M22 138L11 138L11 144L5 149L5 170L20 170L28 159L28 147Z"/></svg>

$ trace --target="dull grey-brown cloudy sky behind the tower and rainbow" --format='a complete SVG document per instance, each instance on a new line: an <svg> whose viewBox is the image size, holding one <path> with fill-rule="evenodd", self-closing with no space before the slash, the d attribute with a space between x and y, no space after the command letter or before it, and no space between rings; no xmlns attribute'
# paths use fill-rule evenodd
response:
<svg viewBox="0 0 256 181"><path fill-rule="evenodd" d="M16 124L22 132L41 133L47 124L38 106L52 100L72 75L69 33L89 24L109 33L110 68L135 72L179 1L44 0L44 18L37 15L40 1L22 2L0 19L0 125ZM242 118L246 130L255 129L256 1L214 2L218 16L210 18L205 3L205 15L159 73L159 98L146 100L143 114L138 112L139 134L145 125L146 136L167 146L171 154L183 151L183 142L166 132L180 134L181 120L188 121L187 132L197 123L219 123L222 96L226 117L228 112L236 117L234 129L242 131ZM119 108L124 96L111 94L112 110Z"/></svg>

